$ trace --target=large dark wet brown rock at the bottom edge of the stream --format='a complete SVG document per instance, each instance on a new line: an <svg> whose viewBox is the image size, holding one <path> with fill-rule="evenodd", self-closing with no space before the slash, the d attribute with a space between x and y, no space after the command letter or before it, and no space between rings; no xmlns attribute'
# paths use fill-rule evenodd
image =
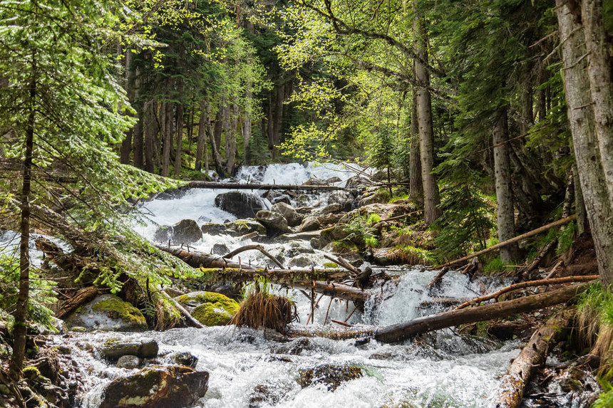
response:
<svg viewBox="0 0 613 408"><path fill-rule="evenodd" d="M209 373L185 366L143 368L106 387L100 408L187 407L204 397Z"/></svg>

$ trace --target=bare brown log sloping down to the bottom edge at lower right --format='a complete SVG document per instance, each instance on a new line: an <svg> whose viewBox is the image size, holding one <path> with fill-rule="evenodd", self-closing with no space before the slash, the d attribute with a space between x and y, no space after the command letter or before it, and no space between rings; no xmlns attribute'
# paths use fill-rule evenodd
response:
<svg viewBox="0 0 613 408"><path fill-rule="evenodd" d="M508 372L500 380L495 398L497 408L516 408L522 402L525 389L536 368L547 358L551 342L560 340L562 330L572 318L570 310L558 312L530 338L520 355L513 360Z"/></svg>

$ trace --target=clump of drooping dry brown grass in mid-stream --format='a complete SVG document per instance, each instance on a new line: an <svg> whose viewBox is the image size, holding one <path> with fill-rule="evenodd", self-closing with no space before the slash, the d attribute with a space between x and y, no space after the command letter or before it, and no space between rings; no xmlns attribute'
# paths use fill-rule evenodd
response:
<svg viewBox="0 0 613 408"><path fill-rule="evenodd" d="M232 324L249 328L270 328L285 333L285 328L298 318L292 299L273 293L267 278L258 276L244 286L243 300Z"/></svg>

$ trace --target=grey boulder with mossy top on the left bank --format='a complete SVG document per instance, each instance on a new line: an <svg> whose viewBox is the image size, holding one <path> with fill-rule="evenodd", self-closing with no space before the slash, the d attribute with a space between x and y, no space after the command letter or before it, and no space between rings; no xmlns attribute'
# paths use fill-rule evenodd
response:
<svg viewBox="0 0 613 408"><path fill-rule="evenodd" d="M77 308L66 319L69 328L87 330L138 332L147 330L143 313L115 295L97 296L91 302Z"/></svg>

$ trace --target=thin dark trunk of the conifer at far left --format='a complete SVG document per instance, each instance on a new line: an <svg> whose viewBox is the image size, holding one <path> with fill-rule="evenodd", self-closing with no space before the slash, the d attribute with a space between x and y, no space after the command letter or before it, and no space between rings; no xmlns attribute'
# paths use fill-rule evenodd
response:
<svg viewBox="0 0 613 408"><path fill-rule="evenodd" d="M29 115L26 125L26 140L24 142L24 172L21 184L21 221L19 224L19 294L15 305L15 325L14 325L14 344L13 360L11 368L16 377L21 375L24 366L24 356L26 354L26 332L28 315L28 298L30 295L30 185L32 180L32 158L34 155L34 125L36 123L36 56L32 56L32 73L29 92Z"/></svg>

